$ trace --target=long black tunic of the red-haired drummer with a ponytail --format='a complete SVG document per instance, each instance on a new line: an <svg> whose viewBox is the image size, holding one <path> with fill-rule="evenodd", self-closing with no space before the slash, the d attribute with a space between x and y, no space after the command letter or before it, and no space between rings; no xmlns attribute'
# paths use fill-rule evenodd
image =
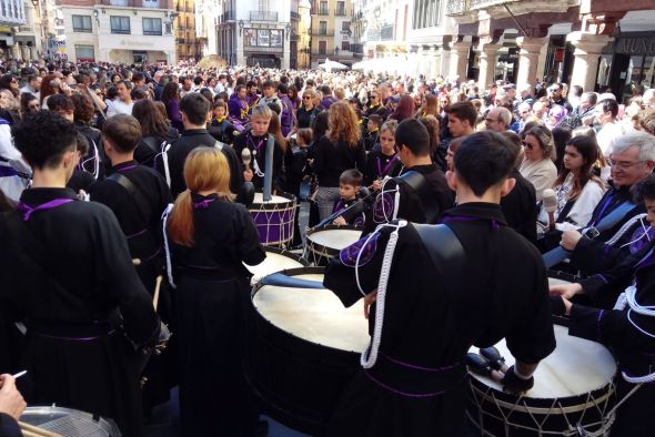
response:
<svg viewBox="0 0 655 437"><path fill-rule="evenodd" d="M252 434L256 413L242 377L249 265L265 253L241 204L192 195L194 244L171 243L180 350L182 436Z"/></svg>

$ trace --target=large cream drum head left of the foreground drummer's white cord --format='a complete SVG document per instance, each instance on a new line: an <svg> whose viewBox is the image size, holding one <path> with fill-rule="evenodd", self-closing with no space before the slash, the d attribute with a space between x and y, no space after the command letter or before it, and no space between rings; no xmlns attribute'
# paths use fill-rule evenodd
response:
<svg viewBox="0 0 655 437"><path fill-rule="evenodd" d="M294 277L323 282L322 274ZM264 285L254 294L256 311L278 328L306 342L362 353L369 346L364 301L350 308L329 289Z"/></svg>

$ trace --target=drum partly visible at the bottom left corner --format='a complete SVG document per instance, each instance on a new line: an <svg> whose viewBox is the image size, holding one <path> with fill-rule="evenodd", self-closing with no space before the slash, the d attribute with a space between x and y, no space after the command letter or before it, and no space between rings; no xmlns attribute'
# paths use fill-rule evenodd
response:
<svg viewBox="0 0 655 437"><path fill-rule="evenodd" d="M27 407L20 420L66 437L121 436L112 421L71 408Z"/></svg>

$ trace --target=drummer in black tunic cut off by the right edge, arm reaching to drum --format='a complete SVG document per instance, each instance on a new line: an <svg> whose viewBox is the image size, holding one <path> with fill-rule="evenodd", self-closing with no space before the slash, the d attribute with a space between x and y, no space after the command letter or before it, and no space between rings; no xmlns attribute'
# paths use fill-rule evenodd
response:
<svg viewBox="0 0 655 437"><path fill-rule="evenodd" d="M645 205L647 220L655 227L655 176L649 175L637 182L633 194L635 203ZM562 296L554 301L555 313L571 317L568 334L607 345L628 375L628 380L635 376L655 376L655 313L652 309L655 305L654 251L655 244L651 243L608 272L580 283L551 287L553 295ZM615 295L617 287L626 285L629 286L614 309L593 308L570 301L577 294ZM632 303L623 301L625 295L634 296ZM651 380L655 380L655 377ZM625 378L621 378L617 386L618 399L633 388ZM653 411L655 387L644 384L618 408L612 435L652 436L655 429Z"/></svg>

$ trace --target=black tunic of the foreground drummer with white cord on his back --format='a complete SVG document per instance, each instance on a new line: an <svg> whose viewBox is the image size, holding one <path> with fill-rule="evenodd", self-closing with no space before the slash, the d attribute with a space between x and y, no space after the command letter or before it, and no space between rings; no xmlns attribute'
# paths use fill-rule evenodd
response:
<svg viewBox="0 0 655 437"><path fill-rule="evenodd" d="M464 204L447 211L444 220L468 261L456 298L441 285L414 227L401 228L377 364L360 372L345 389L329 435L458 436L465 409L463 363L472 345L491 346L506 337L512 354L524 363L538 363L555 348L546 270L536 248L506 226L495 204ZM364 256L366 263L360 266L364 293L377 288L390 232L382 231L372 260ZM347 258L344 252L342 258ZM324 285L345 306L362 297L354 268L339 260L328 267ZM372 333L374 315L369 323ZM385 376L377 368L389 368L389 362L399 365ZM419 376L423 379L415 385L423 387L420 380L429 378L416 368L449 373L447 383L432 390L426 384L432 393L421 396L396 384L404 376L404 382Z"/></svg>

